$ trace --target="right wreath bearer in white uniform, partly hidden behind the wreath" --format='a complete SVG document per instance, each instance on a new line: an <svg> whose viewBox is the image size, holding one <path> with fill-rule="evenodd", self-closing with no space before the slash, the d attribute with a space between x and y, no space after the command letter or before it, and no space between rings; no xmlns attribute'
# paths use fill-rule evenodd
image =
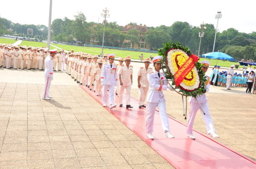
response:
<svg viewBox="0 0 256 169"><path fill-rule="evenodd" d="M207 72L210 62L202 61L201 64L203 64L203 67L202 67L203 72ZM205 82L205 86L206 86L206 93L208 93L210 89L210 77L207 76L206 78L207 78L207 81ZM205 93L203 95L198 95L197 100L200 103L203 111L205 112L205 115L204 115L203 111L200 109L204 119L204 123L206 125L207 133L212 137L219 137L219 135L217 135L215 132L214 123L212 122L212 119L210 117L210 111L207 104L207 98ZM190 97L188 100L190 102L190 112L187 120L187 135L191 139L196 138L193 135L193 124L196 118L197 111L200 108L197 100L194 97Z"/></svg>

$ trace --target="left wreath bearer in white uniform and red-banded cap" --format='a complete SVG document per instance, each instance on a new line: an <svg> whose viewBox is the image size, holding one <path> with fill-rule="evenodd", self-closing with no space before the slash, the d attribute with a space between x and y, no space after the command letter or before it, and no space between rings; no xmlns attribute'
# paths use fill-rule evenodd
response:
<svg viewBox="0 0 256 169"><path fill-rule="evenodd" d="M147 137L154 139L152 134L154 126L154 115L156 107L159 109L159 114L161 117L162 127L165 132L165 137L174 138L170 134L169 121L166 112L165 98L162 90L172 90L172 87L167 86L167 80L164 77L163 73L160 73L162 68L162 57L156 56L152 59L155 70L147 74L148 82L150 83L150 92L147 96L148 104L148 116L146 119L146 133Z"/></svg>

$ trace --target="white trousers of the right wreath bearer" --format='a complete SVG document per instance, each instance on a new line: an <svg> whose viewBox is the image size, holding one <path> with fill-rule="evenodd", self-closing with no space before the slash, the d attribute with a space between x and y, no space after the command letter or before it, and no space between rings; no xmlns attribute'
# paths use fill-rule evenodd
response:
<svg viewBox="0 0 256 169"><path fill-rule="evenodd" d="M214 123L212 122L212 119L210 117L210 111L207 102L201 103L201 107L203 108L205 115L203 114L203 111L201 110L198 103L190 102L190 112L187 120L187 134L191 134L193 132L193 124L199 108L203 116L204 123L206 125L207 133L209 134L211 132L215 132Z"/></svg>

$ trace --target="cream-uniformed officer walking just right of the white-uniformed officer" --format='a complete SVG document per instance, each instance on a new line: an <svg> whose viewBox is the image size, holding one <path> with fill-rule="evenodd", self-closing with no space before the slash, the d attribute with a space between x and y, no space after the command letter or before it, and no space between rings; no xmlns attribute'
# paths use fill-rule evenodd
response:
<svg viewBox="0 0 256 169"><path fill-rule="evenodd" d="M119 76L119 107L123 106L123 92L124 89L126 90L126 108L133 108L130 104L131 100L131 89L133 84L133 66L130 65L131 63L131 56L127 56L124 58L124 65L122 65L118 70Z"/></svg>

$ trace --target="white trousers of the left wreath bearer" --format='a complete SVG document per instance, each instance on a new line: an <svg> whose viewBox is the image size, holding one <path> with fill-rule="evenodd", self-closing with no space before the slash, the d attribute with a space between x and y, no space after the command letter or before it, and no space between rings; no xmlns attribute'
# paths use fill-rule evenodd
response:
<svg viewBox="0 0 256 169"><path fill-rule="evenodd" d="M165 101L161 101L159 103L147 102L147 104L148 104L148 115L146 118L146 133L153 132L154 115L155 115L156 107L158 107L159 109L159 114L160 114L161 123L162 123L164 132L170 131Z"/></svg>

